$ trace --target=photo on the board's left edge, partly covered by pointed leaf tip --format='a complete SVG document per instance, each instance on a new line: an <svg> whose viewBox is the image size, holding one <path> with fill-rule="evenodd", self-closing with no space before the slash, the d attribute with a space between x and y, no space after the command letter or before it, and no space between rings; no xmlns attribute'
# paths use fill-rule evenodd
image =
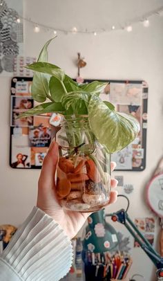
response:
<svg viewBox="0 0 163 281"><path fill-rule="evenodd" d="M33 125L33 116L19 118L19 115L33 107L33 100L29 97L11 97L11 126L28 127Z"/></svg>

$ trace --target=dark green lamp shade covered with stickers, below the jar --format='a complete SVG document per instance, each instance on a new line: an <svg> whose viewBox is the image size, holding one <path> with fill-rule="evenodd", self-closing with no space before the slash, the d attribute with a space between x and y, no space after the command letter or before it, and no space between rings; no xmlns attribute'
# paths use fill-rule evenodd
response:
<svg viewBox="0 0 163 281"><path fill-rule="evenodd" d="M99 210L90 215L83 241L84 251L104 253L106 251L116 251L117 246L117 232L111 224L106 222L104 210Z"/></svg>

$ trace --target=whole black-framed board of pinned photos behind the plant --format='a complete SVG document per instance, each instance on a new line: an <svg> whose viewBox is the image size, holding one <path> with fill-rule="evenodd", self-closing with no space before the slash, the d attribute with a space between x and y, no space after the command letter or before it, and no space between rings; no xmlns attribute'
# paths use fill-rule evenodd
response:
<svg viewBox="0 0 163 281"><path fill-rule="evenodd" d="M104 80L102 80L104 81ZM140 122L135 141L112 154L116 170L142 171L146 165L146 128L148 85L144 81L105 80L108 85L100 98L115 105L117 111L130 113ZM84 82L93 82L85 80ZM10 166L40 169L52 138L50 120L59 124L59 114L17 118L19 114L39 105L31 96L32 78L15 77L11 82L10 110Z"/></svg>

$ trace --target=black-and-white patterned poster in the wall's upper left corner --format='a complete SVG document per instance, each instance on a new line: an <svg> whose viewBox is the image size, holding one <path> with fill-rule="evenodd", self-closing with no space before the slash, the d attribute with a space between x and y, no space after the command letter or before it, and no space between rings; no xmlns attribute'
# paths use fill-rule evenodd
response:
<svg viewBox="0 0 163 281"><path fill-rule="evenodd" d="M23 0L0 1L0 75L11 76L23 53Z"/></svg>

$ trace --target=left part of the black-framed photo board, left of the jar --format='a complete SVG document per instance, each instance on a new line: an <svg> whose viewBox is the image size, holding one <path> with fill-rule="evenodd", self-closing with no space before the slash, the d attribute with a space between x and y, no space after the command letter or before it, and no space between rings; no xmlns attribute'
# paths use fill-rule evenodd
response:
<svg viewBox="0 0 163 281"><path fill-rule="evenodd" d="M42 166L51 141L51 114L17 118L39 105L31 96L32 78L12 78L10 100L10 166L34 168Z"/></svg>

